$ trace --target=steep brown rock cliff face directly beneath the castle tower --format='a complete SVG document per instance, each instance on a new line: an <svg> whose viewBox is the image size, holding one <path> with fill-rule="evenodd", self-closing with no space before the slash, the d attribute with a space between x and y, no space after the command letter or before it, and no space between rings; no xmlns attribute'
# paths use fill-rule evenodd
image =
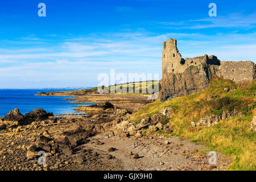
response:
<svg viewBox="0 0 256 182"><path fill-rule="evenodd" d="M214 67L207 63L190 66L183 73L166 73L161 80L162 102L174 97L201 92L208 87L210 78L216 75Z"/></svg>

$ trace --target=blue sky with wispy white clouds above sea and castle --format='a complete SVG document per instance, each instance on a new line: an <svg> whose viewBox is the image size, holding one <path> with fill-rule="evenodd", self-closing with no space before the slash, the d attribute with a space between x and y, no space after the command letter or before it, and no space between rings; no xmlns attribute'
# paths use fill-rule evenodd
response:
<svg viewBox="0 0 256 182"><path fill-rule="evenodd" d="M255 63L255 9L234 0L0 1L0 88L97 86L111 68L161 76L168 38L184 58Z"/></svg>

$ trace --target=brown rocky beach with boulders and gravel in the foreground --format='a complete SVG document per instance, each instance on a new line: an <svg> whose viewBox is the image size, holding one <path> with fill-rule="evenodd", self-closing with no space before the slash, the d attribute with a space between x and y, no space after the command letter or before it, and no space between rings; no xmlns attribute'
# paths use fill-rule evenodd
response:
<svg viewBox="0 0 256 182"><path fill-rule="evenodd" d="M172 126L162 122L172 107L134 122L131 111L110 102L88 108L94 113L74 117L10 111L0 121L0 170L222 170L231 163L218 154L210 165L205 146L172 136ZM44 165L39 151L46 152Z"/></svg>

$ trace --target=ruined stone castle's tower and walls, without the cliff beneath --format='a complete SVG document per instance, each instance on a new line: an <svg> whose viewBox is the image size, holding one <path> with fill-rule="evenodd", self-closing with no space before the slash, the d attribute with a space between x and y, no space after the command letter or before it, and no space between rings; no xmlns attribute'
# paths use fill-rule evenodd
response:
<svg viewBox="0 0 256 182"><path fill-rule="evenodd" d="M255 80L255 64L252 61L220 61L216 56L208 55L183 59L177 49L176 39L163 42L163 77L168 73L183 73L188 67L196 67L202 63L210 65L218 77L235 82Z"/></svg>

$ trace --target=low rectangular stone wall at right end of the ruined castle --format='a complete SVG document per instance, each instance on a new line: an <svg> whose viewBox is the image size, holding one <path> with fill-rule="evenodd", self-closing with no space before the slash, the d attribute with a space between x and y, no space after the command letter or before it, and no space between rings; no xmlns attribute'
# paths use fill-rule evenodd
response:
<svg viewBox="0 0 256 182"><path fill-rule="evenodd" d="M218 76L235 82L255 80L255 64L252 61L221 61Z"/></svg>

